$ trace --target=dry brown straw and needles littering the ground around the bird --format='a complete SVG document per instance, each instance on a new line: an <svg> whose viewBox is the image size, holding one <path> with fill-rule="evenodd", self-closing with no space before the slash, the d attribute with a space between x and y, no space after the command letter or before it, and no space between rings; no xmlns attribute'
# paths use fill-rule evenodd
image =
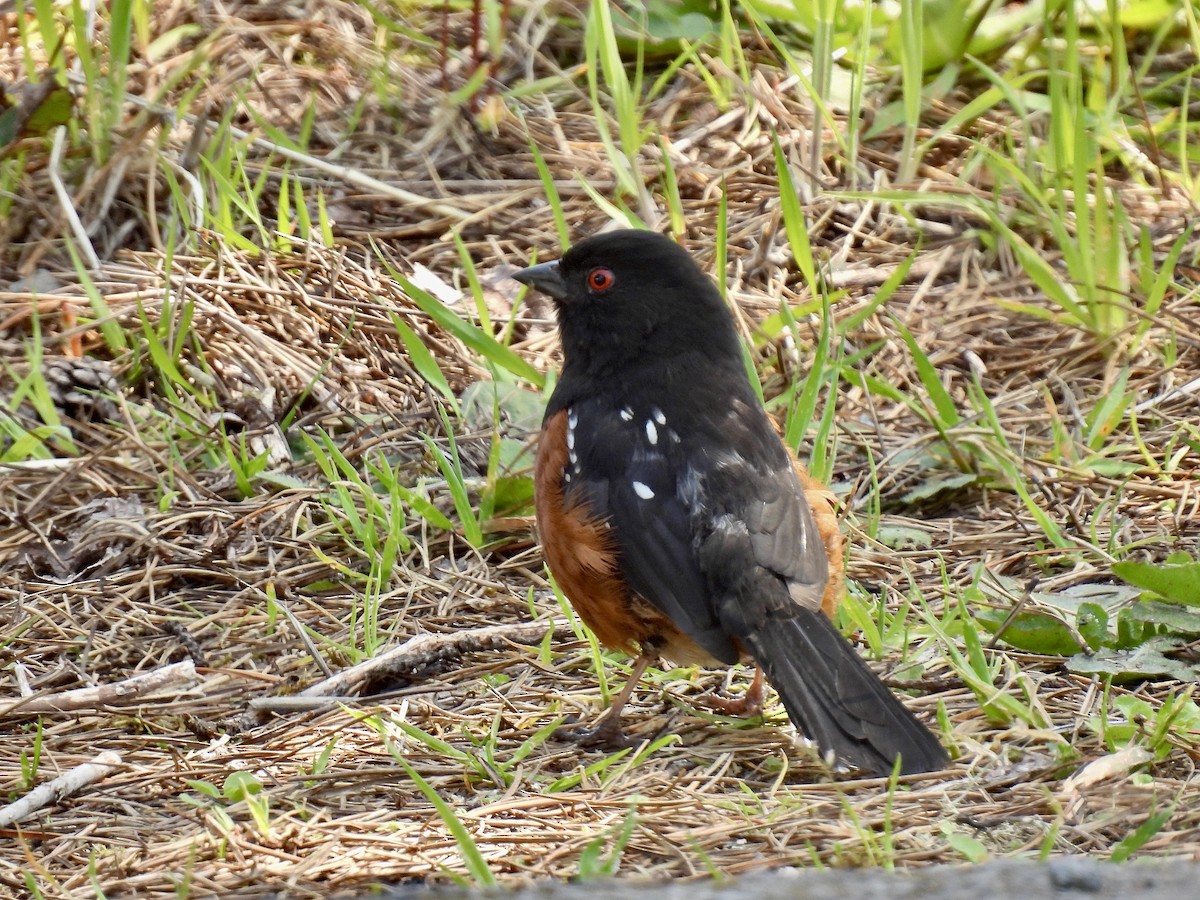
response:
<svg viewBox="0 0 1200 900"><path fill-rule="evenodd" d="M158 6L156 29L163 31L185 22L209 30L218 24L215 6ZM461 110L446 109L436 70L413 65L413 56L392 58L394 103L372 95L365 74L348 62L377 56L361 10L311 0L295 18L236 17L254 8L221 13L221 66L203 76L202 100L216 106L235 86L245 89L245 106L286 131L302 120L310 102L318 121L338 122L361 101L361 121L338 163L466 214L461 234L484 274L493 314L505 316L516 299L517 286L503 277L510 266L524 264L534 251L542 258L557 253L527 134L556 175L574 232L604 223L577 180L601 193L612 182L582 95L554 96L553 106L539 101L526 109L526 125L506 115L494 131L481 131ZM0 19L14 28L12 13ZM456 19L455 26L462 23ZM522 65L551 72L551 60L524 40L523 32L510 36L505 73L516 78ZM132 89L163 78L163 65L139 70ZM712 263L718 188L725 180L731 295L748 334L780 299L798 302L804 293L778 251L781 223L769 202L776 187L768 126L780 128L797 158L806 158L811 113L793 94L770 88L776 74L760 71L761 90L721 113L683 71L647 110L676 148L686 242L706 264ZM248 120L240 125L253 127ZM1006 122L973 127L976 137L986 137ZM188 132L181 127L172 136L172 152L186 144ZM648 738L676 736L648 756L598 770L602 755L550 738L518 763L498 767L556 718L598 712L590 649L571 638L553 641L544 653L510 644L433 660L383 695L247 721L252 700L294 694L326 670L350 665L352 650L364 640L355 617L370 560L338 536L336 516L324 504L328 479L311 455L287 442L299 430L320 426L350 461L382 456L414 478L434 475L421 436L445 445L436 394L414 371L389 312L421 335L456 390L486 377L486 368L420 312L379 256L406 274L421 264L449 282L461 278L448 233L452 217L298 163L293 175L325 184L340 236L336 250L294 241L288 252L252 254L211 236L168 263L161 236L143 226L152 216L137 212L163 191L161 185L151 190L148 178L154 172L148 133L131 136L122 148L127 163L120 184L106 180L116 178L113 170L97 172L77 200L84 221L108 222L102 230L108 240L97 250L112 260L95 281L128 334L138 332L143 316L151 324L168 316L167 324L175 326L180 304L194 305L196 341L185 342L182 359L187 374L217 401L204 415L186 397L169 400L144 344L110 354L95 330L72 332L71 310L89 308L89 299L65 264L56 239L61 221L44 169L32 170L29 181L30 194L42 198L42 221L31 204L20 208L25 218L5 226L5 236L17 242L0 259L4 270L22 277L41 270L58 286L36 295L19 286L0 293L6 358L24 359L36 302L47 353L62 353L79 338L94 355L113 356L124 391L116 422L73 427L74 454L0 467L6 697L0 701L6 708L0 785L13 799L32 786L35 739L34 782L104 750L120 754L121 764L77 796L4 829L0 893L24 893L26 872L47 896L90 896L101 889L166 895L180 883L202 895L234 889L265 895L287 887L296 896L320 896L332 887L461 874L458 845L364 721L367 714L409 722L452 746L449 752L395 737L404 760L452 806L505 884L578 875L589 848L602 847L601 859L612 851L629 816L635 818L619 860L623 877L961 862L967 839L978 841L971 846L980 852L1002 857L1104 856L1176 800L1142 853L1195 858L1200 852L1200 808L1184 799L1196 788L1194 743L1181 743L1140 769L1145 776L1116 764L1069 778L1086 763L1110 758L1087 726L1103 712L1098 684L1067 673L1057 659L989 649L1001 664L996 690L1039 712L1045 727L989 719L917 612L910 614L922 638L908 653L924 673L911 706L930 720L944 707L958 762L949 773L908 779L895 790L886 780L832 775L796 745L779 709L766 724L714 722L698 713L690 700L724 686L721 672L666 672L637 692L628 710L634 730ZM886 140L864 154L859 174L865 184L887 184L893 174ZM317 128L314 146L335 143L335 127ZM953 150L947 145L944 166L923 173L935 188L955 174ZM654 154L646 154L648 172ZM252 158L277 164L262 152ZM826 162L828 168L817 173L822 180L848 184L836 161ZM1152 224L1159 258L1190 214L1181 200L1138 194L1133 187L1126 203ZM916 240L925 240L908 283L886 311L846 336L847 346L882 340L864 364L866 373L922 396L895 326L904 323L965 410L973 409L974 373L991 398L1012 462L1039 487L1037 502L1074 546L1049 546L1028 506L1003 490L986 456L996 438L978 414L965 419L958 437L979 479L913 499L913 487L955 474L955 461L926 452L937 436L908 406L844 383L833 480L847 500L851 577L881 593L892 608L902 598L919 596L937 622L950 617L961 596L976 596L980 568L1018 583L1036 577L1039 590L1054 590L1109 580L1115 547L1140 545L1148 558L1169 550L1200 552L1196 456L1178 443L1195 421L1200 377L1200 323L1190 298L1169 300L1144 344L1123 356L1128 390L1142 412L1141 431L1135 436L1122 422L1111 442L1120 449L1110 456L1136 468L1110 476L1082 461L1048 462L1055 457L1056 425L1079 426L1094 398L1111 389L1118 376L1114 360L1122 356L1098 350L1078 329L1007 311L1000 301L1042 302L1019 266L985 250L968 230L978 223L961 212L934 204L913 211L901 217L870 202L814 202L815 241L834 260L834 284L846 290L834 310L839 322L864 308ZM814 323L803 325L812 329L815 342ZM1177 347L1171 367L1157 350L1168 340ZM544 306L532 302L517 312L514 346L540 370L553 367ZM805 371L809 352L786 342L762 348L769 394ZM278 422L289 412L294 424L283 436ZM221 427L269 450L278 478L242 496L226 461L211 455ZM486 467L488 433L458 439L467 461ZM971 452L976 446L983 449ZM1180 450L1178 458L1170 470L1154 470L1146 452L1166 446ZM875 482L869 461L878 467ZM449 511L444 492L433 496ZM877 522L875 499L882 504ZM481 552L413 517L413 547L379 598L386 643L527 622L530 588L536 616L560 618L527 526L527 520L508 521L506 540ZM900 527L910 539L919 533L923 540L896 548L872 536ZM22 679L31 696L52 696L188 658L197 666L194 680L132 704L40 719L23 715L19 703L11 706ZM1145 683L1112 692L1133 691L1157 703L1180 688ZM251 773L262 784L269 829L256 827L245 802L197 799L190 782L221 787L233 772ZM221 811L232 827L222 826Z"/></svg>

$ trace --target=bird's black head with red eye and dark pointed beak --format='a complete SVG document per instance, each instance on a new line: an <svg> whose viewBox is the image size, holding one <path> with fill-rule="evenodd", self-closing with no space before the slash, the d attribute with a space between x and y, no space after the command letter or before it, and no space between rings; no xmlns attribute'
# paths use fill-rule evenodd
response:
<svg viewBox="0 0 1200 900"><path fill-rule="evenodd" d="M682 355L742 365L716 287L661 234L598 234L512 277L553 298L569 370L629 371Z"/></svg>

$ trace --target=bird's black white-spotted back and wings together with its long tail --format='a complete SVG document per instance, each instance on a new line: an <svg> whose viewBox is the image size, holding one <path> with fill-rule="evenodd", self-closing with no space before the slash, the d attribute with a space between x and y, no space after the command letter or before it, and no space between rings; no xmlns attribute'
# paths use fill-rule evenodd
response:
<svg viewBox="0 0 1200 900"><path fill-rule="evenodd" d="M569 409L568 494L608 521L630 587L716 659L744 647L822 751L876 773L898 756L904 773L943 768L937 739L821 612L824 546L750 403L684 421L581 402Z"/></svg>

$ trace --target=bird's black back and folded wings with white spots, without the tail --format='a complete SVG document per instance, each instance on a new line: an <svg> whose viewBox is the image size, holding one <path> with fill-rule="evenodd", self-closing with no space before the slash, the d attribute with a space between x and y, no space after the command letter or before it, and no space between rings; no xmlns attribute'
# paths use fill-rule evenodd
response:
<svg viewBox="0 0 1200 900"><path fill-rule="evenodd" d="M824 550L754 401L691 415L583 401L568 416L568 497L583 492L613 528L630 587L713 656L737 661L748 618L820 606Z"/></svg>

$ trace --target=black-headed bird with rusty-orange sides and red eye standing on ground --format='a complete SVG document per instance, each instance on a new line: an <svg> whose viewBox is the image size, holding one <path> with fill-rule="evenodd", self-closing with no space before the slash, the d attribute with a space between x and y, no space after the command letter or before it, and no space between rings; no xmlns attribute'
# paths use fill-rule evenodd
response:
<svg viewBox="0 0 1200 900"><path fill-rule="evenodd" d="M691 254L604 232L514 274L551 298L563 366L534 472L550 571L608 648L636 660L590 743L628 745L646 667L757 666L826 758L870 774L937 772L937 738L830 619L842 544L832 494L755 392L732 312Z"/></svg>

